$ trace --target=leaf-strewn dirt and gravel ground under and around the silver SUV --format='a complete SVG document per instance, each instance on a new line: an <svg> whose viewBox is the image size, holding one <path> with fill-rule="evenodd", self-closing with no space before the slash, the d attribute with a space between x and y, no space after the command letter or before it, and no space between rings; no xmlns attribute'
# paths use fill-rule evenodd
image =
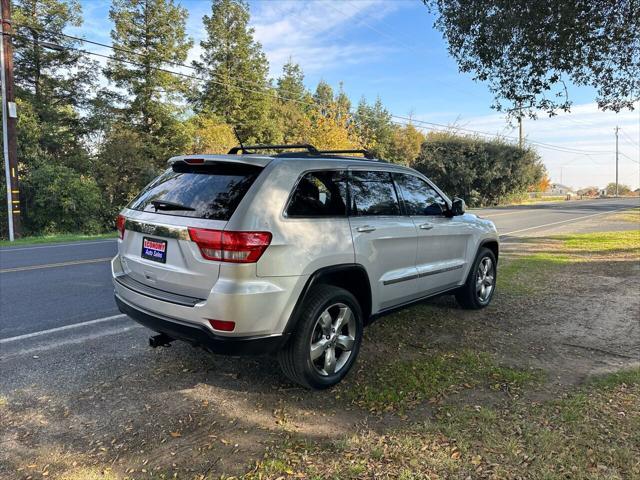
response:
<svg viewBox="0 0 640 480"><path fill-rule="evenodd" d="M539 238L505 244L501 267L547 248ZM339 441L362 428L384 433L431 415L429 402L370 411L354 401L354 390L381 364L425 350L471 348L501 365L542 371L545 381L515 393L532 400L640 364L635 256L594 256L538 272L524 285L501 285L482 311L461 310L443 296L377 321L354 371L324 392L290 384L274 358L212 356L180 343L141 350L127 365L97 359L103 381L87 388L50 394L33 385L0 399L0 477L219 478L250 471L291 440ZM449 401L482 404L513 394L473 388Z"/></svg>

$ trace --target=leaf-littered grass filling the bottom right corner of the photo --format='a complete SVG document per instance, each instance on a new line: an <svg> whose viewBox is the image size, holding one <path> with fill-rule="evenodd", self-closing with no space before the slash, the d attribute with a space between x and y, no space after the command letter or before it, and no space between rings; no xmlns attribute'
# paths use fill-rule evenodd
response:
<svg viewBox="0 0 640 480"><path fill-rule="evenodd" d="M277 461L274 461L277 460ZM247 479L640 478L640 369L542 404L447 406L435 418L271 452Z"/></svg>

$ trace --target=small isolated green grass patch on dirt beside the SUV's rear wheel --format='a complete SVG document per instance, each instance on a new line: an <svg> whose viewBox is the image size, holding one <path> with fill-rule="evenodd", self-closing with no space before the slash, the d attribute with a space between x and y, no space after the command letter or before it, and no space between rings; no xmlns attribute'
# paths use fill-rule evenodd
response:
<svg viewBox="0 0 640 480"><path fill-rule="evenodd" d="M344 395L370 411L403 411L464 389L486 386L514 391L540 379L539 371L497 365L484 352L434 352L372 366L364 372L364 378L347 387Z"/></svg>

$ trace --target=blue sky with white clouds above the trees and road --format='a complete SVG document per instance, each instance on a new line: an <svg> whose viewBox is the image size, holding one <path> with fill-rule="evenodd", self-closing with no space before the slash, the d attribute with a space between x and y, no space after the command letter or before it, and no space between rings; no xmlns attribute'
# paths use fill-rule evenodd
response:
<svg viewBox="0 0 640 480"><path fill-rule="evenodd" d="M194 40L189 60L200 53L202 16L209 0L175 0L189 12ZM68 33L110 43L108 0L81 0L85 22ZM352 103L380 97L394 115L515 139L516 125L492 110L485 83L458 71L434 17L420 0L251 0L251 25L277 78L289 58L299 63L305 84L320 80ZM87 50L108 53L100 47ZM595 92L569 86L571 112L524 120L525 139L535 146L552 182L576 189L615 181L615 133L619 133L619 179L640 184L640 105L634 111L599 111ZM416 126L418 124L416 123ZM425 132L433 126L422 124ZM441 127L435 127L441 128ZM462 131L462 130L461 130ZM541 145L545 144L545 145ZM562 150L562 151L560 151Z"/></svg>

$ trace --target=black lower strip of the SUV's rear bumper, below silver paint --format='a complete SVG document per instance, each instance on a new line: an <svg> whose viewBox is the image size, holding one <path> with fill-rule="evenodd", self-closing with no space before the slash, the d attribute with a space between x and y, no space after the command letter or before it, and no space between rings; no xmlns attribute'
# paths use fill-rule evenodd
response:
<svg viewBox="0 0 640 480"><path fill-rule="evenodd" d="M260 355L273 353L281 349L288 335L270 335L254 337L228 337L216 335L204 325L182 322L176 319L162 318L145 312L115 295L116 303L122 313L151 330L164 333L176 340L183 340L212 353L224 355Z"/></svg>

